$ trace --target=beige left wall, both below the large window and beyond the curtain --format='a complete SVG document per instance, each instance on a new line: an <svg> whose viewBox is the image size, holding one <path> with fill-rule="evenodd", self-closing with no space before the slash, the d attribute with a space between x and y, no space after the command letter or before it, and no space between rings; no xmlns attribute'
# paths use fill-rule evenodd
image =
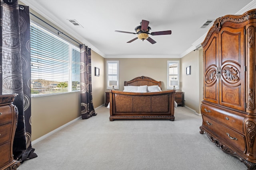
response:
<svg viewBox="0 0 256 170"><path fill-rule="evenodd" d="M94 76L95 66L100 68L100 76ZM104 104L103 84L104 58L92 51L92 100L94 108ZM80 92L32 97L32 141L80 117L80 103Z"/></svg>

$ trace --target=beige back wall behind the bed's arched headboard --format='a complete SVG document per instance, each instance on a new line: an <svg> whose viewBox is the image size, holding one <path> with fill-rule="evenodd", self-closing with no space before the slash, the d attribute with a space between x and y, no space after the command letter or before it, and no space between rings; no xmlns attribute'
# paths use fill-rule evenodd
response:
<svg viewBox="0 0 256 170"><path fill-rule="evenodd" d="M162 81L162 90L167 89L167 61L180 59L105 59L119 61L119 90L124 90L124 81L132 80L135 77L146 76L156 81ZM106 89L106 75L104 88Z"/></svg>

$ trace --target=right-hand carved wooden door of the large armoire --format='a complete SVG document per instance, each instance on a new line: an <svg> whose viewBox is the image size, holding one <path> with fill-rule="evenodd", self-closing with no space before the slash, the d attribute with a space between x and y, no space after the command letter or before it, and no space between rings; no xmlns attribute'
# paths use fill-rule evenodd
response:
<svg viewBox="0 0 256 170"><path fill-rule="evenodd" d="M223 27L219 34L219 104L245 111L244 27Z"/></svg>

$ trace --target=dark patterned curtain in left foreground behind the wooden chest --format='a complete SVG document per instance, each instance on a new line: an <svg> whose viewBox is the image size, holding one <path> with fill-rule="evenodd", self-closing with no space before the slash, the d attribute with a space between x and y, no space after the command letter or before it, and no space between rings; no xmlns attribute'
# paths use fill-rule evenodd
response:
<svg viewBox="0 0 256 170"><path fill-rule="evenodd" d="M20 161L37 155L31 147L30 17L29 7L18 0L0 0L0 94L18 94L18 124L13 154Z"/></svg>

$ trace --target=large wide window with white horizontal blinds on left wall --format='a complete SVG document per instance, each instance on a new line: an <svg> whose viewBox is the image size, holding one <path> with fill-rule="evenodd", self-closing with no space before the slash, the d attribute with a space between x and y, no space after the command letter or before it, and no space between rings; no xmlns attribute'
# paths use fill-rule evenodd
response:
<svg viewBox="0 0 256 170"><path fill-rule="evenodd" d="M80 49L30 24L31 95L80 90Z"/></svg>

